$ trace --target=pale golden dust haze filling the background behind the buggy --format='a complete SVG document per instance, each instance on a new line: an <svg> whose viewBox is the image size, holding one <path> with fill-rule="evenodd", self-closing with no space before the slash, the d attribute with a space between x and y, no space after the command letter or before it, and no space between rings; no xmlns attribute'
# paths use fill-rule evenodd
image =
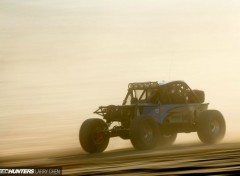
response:
<svg viewBox="0 0 240 176"><path fill-rule="evenodd" d="M202 89L239 141L239 1L0 1L0 155L81 150L78 131L134 81ZM130 146L111 141L108 149ZM199 142L181 134L177 143Z"/></svg>

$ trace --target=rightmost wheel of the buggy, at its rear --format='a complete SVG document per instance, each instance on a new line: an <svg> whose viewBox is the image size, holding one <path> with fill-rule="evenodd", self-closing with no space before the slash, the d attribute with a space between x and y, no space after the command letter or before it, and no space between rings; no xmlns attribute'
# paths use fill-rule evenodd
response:
<svg viewBox="0 0 240 176"><path fill-rule="evenodd" d="M217 110L207 110L200 114L197 124L199 139L205 144L214 144L223 139L226 124L223 115Z"/></svg>

